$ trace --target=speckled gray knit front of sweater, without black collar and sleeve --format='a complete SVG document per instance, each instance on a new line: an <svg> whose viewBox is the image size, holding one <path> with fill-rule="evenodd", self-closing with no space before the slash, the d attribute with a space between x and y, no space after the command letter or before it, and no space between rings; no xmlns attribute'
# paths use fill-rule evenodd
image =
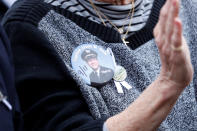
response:
<svg viewBox="0 0 197 131"><path fill-rule="evenodd" d="M197 88L196 5L197 0L182 0L180 11L184 30L183 35L191 52L194 78L191 84L182 92L170 114L162 122L159 131L197 131L197 94L195 93ZM88 32L87 29L81 28L76 22L54 10L50 10L39 21L38 29L47 37L66 65L69 73L78 83L81 94L85 98L94 119L110 117L123 111L138 98L160 72L161 63L154 39L150 39L136 48L126 46L122 42L107 42L107 40ZM116 63L126 69L127 78L125 81L132 86L132 89L123 88L124 93L118 93L113 80L102 86L102 88L87 85L73 70L71 64L71 55L74 49L84 43L111 48ZM135 43L131 42L131 44Z"/></svg>

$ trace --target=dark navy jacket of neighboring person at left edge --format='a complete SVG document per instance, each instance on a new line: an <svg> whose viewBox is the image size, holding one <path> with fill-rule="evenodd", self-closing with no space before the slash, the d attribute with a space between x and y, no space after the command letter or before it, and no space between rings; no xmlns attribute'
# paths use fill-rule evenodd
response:
<svg viewBox="0 0 197 131"><path fill-rule="evenodd" d="M22 130L22 119L14 87L14 67L8 38L0 25L0 93L6 97L8 106L0 96L0 131Z"/></svg>

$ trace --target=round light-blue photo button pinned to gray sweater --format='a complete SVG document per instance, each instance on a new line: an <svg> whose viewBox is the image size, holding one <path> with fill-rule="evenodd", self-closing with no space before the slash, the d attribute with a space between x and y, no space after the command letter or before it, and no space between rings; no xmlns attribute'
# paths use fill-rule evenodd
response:
<svg viewBox="0 0 197 131"><path fill-rule="evenodd" d="M115 65L107 49L95 44L78 46L71 57L72 68L91 86L102 86L114 76Z"/></svg>

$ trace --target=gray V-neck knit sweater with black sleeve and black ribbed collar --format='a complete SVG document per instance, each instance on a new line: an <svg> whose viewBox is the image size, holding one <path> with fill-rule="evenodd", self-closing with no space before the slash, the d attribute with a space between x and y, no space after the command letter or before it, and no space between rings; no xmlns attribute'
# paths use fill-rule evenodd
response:
<svg viewBox="0 0 197 131"><path fill-rule="evenodd" d="M165 0L154 1L146 25L128 38L128 46L115 30L62 8L40 0L16 4L4 19L4 26L13 44L16 86L26 112L27 127L102 130L106 118L123 111L137 99L160 72L159 52L152 32L164 3ZM197 127L195 4L194 0L182 1L180 12L183 35L191 50L194 78L159 131L195 131ZM132 89L123 88L124 93L118 93L113 80L100 88L85 84L71 66L74 49L84 43L111 48L116 63L126 69L125 81ZM32 96L32 92L37 95Z"/></svg>

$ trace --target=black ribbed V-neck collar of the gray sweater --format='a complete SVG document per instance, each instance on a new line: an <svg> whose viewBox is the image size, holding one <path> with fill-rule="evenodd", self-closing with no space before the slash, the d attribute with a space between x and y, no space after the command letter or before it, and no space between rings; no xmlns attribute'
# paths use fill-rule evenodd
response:
<svg viewBox="0 0 197 131"><path fill-rule="evenodd" d="M130 42L128 46L131 49L136 49L139 46L143 45L144 43L154 38L153 29L158 22L160 9L165 4L165 1L166 0L154 0L153 6L151 9L151 14L149 15L149 18L145 26L141 30L134 32L130 37L126 39L126 41ZM87 18L75 15L57 6L53 8L55 9L56 12L61 13L65 17L71 19L78 26L87 30L91 34L97 36L101 40L108 42L108 43L122 43L120 34L113 28L105 27L102 24L98 24L96 22L90 21Z"/></svg>

